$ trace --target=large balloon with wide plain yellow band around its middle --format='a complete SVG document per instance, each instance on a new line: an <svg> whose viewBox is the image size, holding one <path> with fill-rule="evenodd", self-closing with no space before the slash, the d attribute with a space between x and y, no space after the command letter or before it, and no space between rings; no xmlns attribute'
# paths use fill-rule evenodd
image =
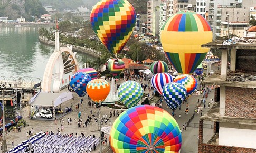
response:
<svg viewBox="0 0 256 153"><path fill-rule="evenodd" d="M211 41L211 26L203 16L193 11L174 14L161 30L165 55L178 73L193 73L209 50L201 45Z"/></svg>

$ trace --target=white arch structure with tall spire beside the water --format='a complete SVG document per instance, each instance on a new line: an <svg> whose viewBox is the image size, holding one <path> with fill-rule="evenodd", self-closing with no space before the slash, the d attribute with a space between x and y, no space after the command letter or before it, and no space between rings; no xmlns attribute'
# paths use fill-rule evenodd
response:
<svg viewBox="0 0 256 153"><path fill-rule="evenodd" d="M59 32L55 32L55 51L50 56L45 67L42 91L59 93L65 73L72 72L74 74L78 69L77 59L72 52L72 46L61 47L60 49Z"/></svg>

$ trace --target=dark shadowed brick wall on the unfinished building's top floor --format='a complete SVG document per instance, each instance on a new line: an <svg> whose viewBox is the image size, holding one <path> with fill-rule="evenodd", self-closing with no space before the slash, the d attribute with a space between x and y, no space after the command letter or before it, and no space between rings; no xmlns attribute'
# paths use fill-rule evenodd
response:
<svg viewBox="0 0 256 153"><path fill-rule="evenodd" d="M252 66L254 65L254 66ZM256 71L256 51L237 50L236 51L236 70Z"/></svg>

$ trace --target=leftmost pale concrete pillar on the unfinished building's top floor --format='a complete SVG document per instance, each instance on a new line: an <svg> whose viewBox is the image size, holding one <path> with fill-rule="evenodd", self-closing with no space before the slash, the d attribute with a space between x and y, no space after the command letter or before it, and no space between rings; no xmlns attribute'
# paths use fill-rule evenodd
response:
<svg viewBox="0 0 256 153"><path fill-rule="evenodd" d="M227 49L221 50L221 80L226 80L227 76Z"/></svg>

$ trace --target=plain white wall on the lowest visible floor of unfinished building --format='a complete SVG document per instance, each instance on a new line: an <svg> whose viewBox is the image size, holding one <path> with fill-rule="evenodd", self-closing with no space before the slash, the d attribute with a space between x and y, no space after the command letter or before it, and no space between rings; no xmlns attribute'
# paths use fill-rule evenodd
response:
<svg viewBox="0 0 256 153"><path fill-rule="evenodd" d="M256 128L255 128L256 129ZM256 149L256 130L253 126L220 122L219 145Z"/></svg>

